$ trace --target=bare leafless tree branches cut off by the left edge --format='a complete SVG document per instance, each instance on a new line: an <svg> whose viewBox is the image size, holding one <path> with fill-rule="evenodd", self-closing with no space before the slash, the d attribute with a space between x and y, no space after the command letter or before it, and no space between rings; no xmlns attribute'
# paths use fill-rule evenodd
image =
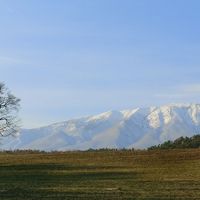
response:
<svg viewBox="0 0 200 200"><path fill-rule="evenodd" d="M0 83L0 136L14 135L18 132L17 112L20 99L15 97Z"/></svg>

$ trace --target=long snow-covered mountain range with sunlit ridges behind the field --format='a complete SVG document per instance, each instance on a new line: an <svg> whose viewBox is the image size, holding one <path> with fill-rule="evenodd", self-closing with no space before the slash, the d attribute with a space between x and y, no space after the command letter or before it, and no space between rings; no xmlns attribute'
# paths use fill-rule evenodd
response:
<svg viewBox="0 0 200 200"><path fill-rule="evenodd" d="M89 148L146 148L180 136L200 133L200 104L109 111L23 129L5 138L2 149L85 150Z"/></svg>

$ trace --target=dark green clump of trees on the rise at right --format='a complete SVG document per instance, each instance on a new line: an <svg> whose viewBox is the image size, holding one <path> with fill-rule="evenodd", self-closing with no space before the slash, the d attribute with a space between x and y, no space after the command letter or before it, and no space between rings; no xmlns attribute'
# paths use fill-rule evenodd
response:
<svg viewBox="0 0 200 200"><path fill-rule="evenodd" d="M174 141L168 140L162 144L150 147L149 150L178 148L200 148L200 135L194 135L192 137L180 137Z"/></svg>

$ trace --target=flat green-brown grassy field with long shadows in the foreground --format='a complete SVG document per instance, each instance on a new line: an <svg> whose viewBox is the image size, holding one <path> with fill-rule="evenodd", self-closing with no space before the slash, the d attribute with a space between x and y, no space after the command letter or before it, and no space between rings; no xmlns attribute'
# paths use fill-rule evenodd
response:
<svg viewBox="0 0 200 200"><path fill-rule="evenodd" d="M200 199L200 149L0 153L11 199Z"/></svg>

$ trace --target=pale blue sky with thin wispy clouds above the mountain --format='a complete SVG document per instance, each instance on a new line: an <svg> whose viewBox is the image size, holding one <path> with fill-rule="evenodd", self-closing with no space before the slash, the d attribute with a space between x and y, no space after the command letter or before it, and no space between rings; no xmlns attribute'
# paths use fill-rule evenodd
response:
<svg viewBox="0 0 200 200"><path fill-rule="evenodd" d="M200 1L0 0L0 81L23 127L200 102Z"/></svg>

